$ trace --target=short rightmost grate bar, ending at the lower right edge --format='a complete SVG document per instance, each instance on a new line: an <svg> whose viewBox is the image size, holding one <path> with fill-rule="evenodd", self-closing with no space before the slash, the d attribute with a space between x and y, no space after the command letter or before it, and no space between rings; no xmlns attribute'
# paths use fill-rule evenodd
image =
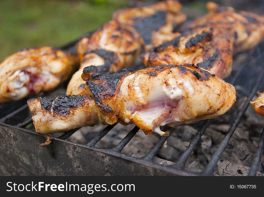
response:
<svg viewBox="0 0 264 197"><path fill-rule="evenodd" d="M258 165L259 165L261 155L263 153L263 149L264 149L264 129L262 130L262 134L259 139L259 144L256 149L256 153L254 155L253 161L251 163L248 176L256 176L256 172L258 170Z"/></svg>

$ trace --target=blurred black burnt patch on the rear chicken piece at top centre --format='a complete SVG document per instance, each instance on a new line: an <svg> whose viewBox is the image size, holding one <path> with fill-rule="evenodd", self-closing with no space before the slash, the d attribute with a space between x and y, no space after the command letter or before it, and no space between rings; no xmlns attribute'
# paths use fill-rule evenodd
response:
<svg viewBox="0 0 264 197"><path fill-rule="evenodd" d="M157 11L150 16L133 18L133 27L143 37L145 44L151 43L153 31L158 31L166 24L166 15L166 11Z"/></svg>

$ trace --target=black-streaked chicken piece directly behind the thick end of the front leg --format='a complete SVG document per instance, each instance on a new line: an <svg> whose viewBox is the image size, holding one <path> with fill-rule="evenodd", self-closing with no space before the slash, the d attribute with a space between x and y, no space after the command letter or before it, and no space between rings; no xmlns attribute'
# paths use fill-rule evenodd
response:
<svg viewBox="0 0 264 197"><path fill-rule="evenodd" d="M221 29L196 28L144 53L147 66L196 64L225 78L232 70L233 40Z"/></svg>

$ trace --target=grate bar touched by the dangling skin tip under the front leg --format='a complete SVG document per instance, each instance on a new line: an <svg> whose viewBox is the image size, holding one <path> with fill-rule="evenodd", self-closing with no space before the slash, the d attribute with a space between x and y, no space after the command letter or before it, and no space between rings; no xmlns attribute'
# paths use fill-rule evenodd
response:
<svg viewBox="0 0 264 197"><path fill-rule="evenodd" d="M155 146L149 151L148 154L146 154L144 157L142 157L141 159L143 160L152 160L153 157L155 157L159 150L161 149L161 147L163 146L163 144L166 142L166 140L170 137L170 135L173 133L175 128L170 128L170 127L165 127L166 130L169 132L167 133L167 135L163 135L161 136L161 138L159 139L159 141L155 144Z"/></svg>

